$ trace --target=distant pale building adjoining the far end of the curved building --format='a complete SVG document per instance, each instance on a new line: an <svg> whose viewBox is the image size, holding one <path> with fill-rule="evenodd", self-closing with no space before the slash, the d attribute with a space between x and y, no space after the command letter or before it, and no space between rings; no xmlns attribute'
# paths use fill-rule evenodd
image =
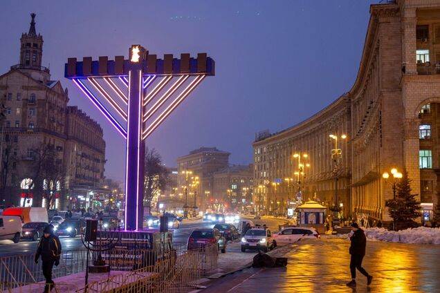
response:
<svg viewBox="0 0 440 293"><path fill-rule="evenodd" d="M216 211L255 211L253 202L253 164L233 165L213 174L212 193L203 191L205 202Z"/></svg>

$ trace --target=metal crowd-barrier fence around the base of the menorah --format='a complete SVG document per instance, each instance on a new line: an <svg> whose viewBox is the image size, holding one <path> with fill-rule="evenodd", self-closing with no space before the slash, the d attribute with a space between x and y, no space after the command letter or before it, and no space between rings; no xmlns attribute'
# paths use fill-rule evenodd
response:
<svg viewBox="0 0 440 293"><path fill-rule="evenodd" d="M63 252L59 266L53 267L53 278L85 272L86 254L85 250ZM129 292L123 289L127 288L134 292L137 286L143 286L143 292L149 292L147 287L154 288L154 292L189 292L194 290L199 278L208 276L217 269L218 254L217 245L187 250L186 244L179 243L166 250L111 249L102 252L102 258L113 272L118 271L120 274L111 276L108 280L90 283L87 289L90 292ZM91 265L97 255L90 253L89 256ZM0 257L1 291L15 288L13 292L31 292L26 291L28 286L22 286L42 281L44 276L41 261L35 264L33 254ZM115 289L115 284L119 284L118 290Z"/></svg>

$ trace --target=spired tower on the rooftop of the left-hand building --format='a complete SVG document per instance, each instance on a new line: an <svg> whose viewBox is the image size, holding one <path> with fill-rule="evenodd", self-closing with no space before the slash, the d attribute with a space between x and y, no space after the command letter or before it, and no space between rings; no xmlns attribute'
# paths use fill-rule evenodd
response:
<svg viewBox="0 0 440 293"><path fill-rule="evenodd" d="M29 32L21 34L20 46L20 63L12 68L19 68L21 70L32 71L33 77L39 76L42 81L46 82L50 75L49 69L42 66L43 57L43 36L38 34L35 30L35 13L31 13ZM35 72L35 70L38 71ZM37 73L37 74L36 74Z"/></svg>

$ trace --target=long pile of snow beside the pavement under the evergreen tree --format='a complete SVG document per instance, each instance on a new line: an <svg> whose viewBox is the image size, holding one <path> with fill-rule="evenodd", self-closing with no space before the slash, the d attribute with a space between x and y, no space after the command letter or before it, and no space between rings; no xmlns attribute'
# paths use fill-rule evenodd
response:
<svg viewBox="0 0 440 293"><path fill-rule="evenodd" d="M385 228L368 228L365 229L365 236L367 236L368 240L440 245L440 228L417 227L401 231L388 231Z"/></svg>

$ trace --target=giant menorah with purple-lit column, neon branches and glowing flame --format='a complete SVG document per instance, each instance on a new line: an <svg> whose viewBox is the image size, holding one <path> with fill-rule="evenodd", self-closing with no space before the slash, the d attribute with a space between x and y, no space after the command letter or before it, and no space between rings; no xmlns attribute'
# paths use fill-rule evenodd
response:
<svg viewBox="0 0 440 293"><path fill-rule="evenodd" d="M127 140L125 229L142 229L145 140L206 76L214 75L214 60L206 53L157 59L133 45L129 59L68 58L64 75Z"/></svg>

